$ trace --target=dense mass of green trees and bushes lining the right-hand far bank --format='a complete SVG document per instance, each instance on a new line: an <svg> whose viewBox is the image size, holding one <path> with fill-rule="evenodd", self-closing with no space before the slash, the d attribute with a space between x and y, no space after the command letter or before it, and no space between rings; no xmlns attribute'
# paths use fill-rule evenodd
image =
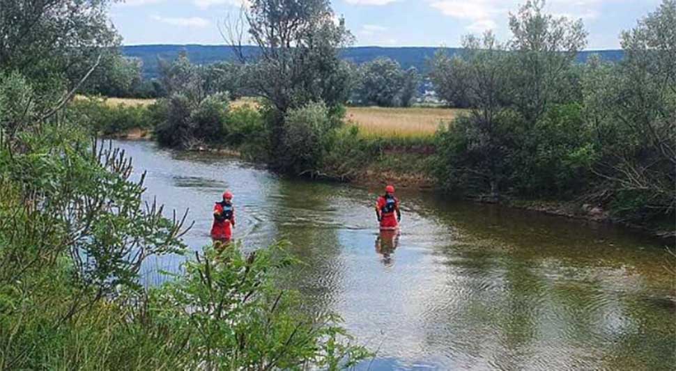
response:
<svg viewBox="0 0 676 371"><path fill-rule="evenodd" d="M581 21L528 1L512 39L489 32L440 53L439 93L470 107L438 135L436 174L452 191L576 199L620 219L670 220L676 206L676 2L621 35L624 59L575 63Z"/></svg>

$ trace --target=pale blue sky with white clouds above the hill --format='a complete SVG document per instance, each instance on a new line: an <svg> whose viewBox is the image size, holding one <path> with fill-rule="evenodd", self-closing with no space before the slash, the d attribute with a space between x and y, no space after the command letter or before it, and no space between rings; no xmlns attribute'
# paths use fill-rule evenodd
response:
<svg viewBox="0 0 676 371"><path fill-rule="evenodd" d="M111 17L125 45L223 44L219 25L246 0L126 0ZM335 0L356 45L455 47L462 35L493 29L509 38L507 17L525 0ZM582 18L587 49L616 49L623 29L661 0L548 0L546 10Z"/></svg>

